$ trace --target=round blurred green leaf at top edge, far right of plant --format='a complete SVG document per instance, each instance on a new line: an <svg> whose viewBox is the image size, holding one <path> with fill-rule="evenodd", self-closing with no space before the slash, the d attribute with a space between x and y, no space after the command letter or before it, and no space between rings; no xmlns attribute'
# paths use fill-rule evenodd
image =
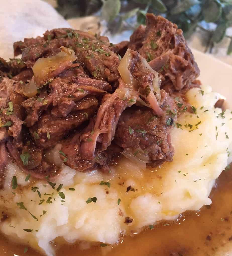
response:
<svg viewBox="0 0 232 256"><path fill-rule="evenodd" d="M216 22L222 15L222 5L217 1L207 1L202 13L206 22Z"/></svg>

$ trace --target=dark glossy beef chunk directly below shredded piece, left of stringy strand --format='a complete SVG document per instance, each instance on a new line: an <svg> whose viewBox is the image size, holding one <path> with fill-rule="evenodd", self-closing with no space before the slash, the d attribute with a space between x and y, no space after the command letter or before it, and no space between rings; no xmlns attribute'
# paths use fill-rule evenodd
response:
<svg viewBox="0 0 232 256"><path fill-rule="evenodd" d="M96 111L97 103L90 108L72 112L66 118L59 118L47 110L41 115L39 121L30 128L35 142L42 148L54 146L64 138L67 133L89 120Z"/></svg>

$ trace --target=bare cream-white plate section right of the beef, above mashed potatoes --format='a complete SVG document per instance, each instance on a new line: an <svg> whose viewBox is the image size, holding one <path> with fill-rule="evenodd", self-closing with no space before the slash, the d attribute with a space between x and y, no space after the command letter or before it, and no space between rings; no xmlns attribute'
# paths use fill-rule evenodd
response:
<svg viewBox="0 0 232 256"><path fill-rule="evenodd" d="M200 68L201 83L225 96L225 107L232 109L232 66L198 50L192 49L192 53Z"/></svg>

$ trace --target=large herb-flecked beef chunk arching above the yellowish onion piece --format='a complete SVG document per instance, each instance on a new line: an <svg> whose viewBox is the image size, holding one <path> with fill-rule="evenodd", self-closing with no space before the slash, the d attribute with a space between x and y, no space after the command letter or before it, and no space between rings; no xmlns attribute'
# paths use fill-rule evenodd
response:
<svg viewBox="0 0 232 256"><path fill-rule="evenodd" d="M22 60L27 67L32 67L38 58L56 55L60 46L70 47L75 51L78 62L88 69L92 77L114 82L119 78L119 58L109 49L108 40L102 39L104 38L79 30L53 29L46 31L44 41L28 45L22 51Z"/></svg>

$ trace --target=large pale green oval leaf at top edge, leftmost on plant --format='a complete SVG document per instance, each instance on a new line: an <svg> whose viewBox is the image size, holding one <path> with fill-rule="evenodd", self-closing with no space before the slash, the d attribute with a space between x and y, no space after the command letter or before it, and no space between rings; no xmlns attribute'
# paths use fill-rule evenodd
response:
<svg viewBox="0 0 232 256"><path fill-rule="evenodd" d="M121 8L120 0L104 0L102 6L102 17L107 22L112 22L119 14Z"/></svg>

